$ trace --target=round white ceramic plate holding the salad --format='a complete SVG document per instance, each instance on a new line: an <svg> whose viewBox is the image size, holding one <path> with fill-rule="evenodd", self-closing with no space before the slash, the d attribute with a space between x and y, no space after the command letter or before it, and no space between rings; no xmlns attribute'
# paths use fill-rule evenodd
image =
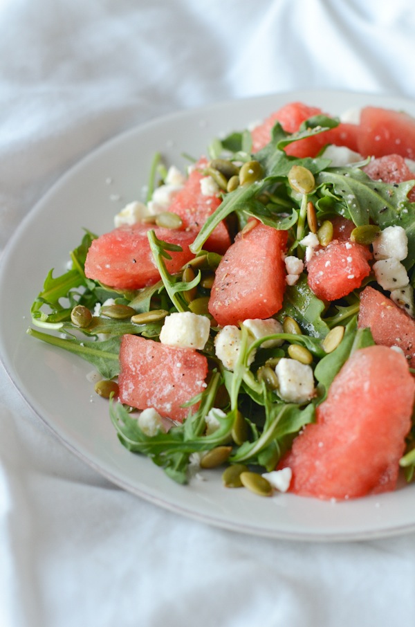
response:
<svg viewBox="0 0 415 627"><path fill-rule="evenodd" d="M111 140L54 185L3 254L0 293L13 294L13 301L10 307L10 298L0 299L0 354L30 407L68 448L115 484L160 507L227 529L295 540L356 540L412 531L415 485L332 503L290 494L259 498L246 490L224 489L220 473L212 471L187 487L175 484L150 460L118 442L107 401L86 381L89 364L26 335L30 305L50 268L55 275L64 271L83 227L95 233L111 230L116 212L140 199L156 151L180 167L185 163L181 154L197 157L214 136L243 129L293 100L333 114L377 104L415 115L415 103L397 98L306 91L183 111Z"/></svg>

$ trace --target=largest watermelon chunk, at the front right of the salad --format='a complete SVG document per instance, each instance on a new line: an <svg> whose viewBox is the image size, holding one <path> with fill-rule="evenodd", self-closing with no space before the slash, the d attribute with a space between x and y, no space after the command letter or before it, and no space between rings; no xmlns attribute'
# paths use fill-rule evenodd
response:
<svg viewBox="0 0 415 627"><path fill-rule="evenodd" d="M415 382L405 358L384 346L357 350L335 377L279 467L290 491L347 499L394 490L411 428Z"/></svg>

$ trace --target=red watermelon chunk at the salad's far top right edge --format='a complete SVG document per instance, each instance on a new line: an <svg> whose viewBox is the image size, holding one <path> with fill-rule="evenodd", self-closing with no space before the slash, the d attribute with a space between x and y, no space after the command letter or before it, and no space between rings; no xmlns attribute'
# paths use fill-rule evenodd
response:
<svg viewBox="0 0 415 627"><path fill-rule="evenodd" d="M415 158L415 118L408 113L364 107L359 126L358 152L363 156L400 154Z"/></svg>

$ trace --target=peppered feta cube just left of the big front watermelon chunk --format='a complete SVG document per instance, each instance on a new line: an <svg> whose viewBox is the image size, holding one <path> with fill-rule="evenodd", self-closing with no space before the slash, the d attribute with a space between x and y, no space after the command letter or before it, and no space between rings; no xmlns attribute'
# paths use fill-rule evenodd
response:
<svg viewBox="0 0 415 627"><path fill-rule="evenodd" d="M314 395L314 375L311 366L296 359L282 357L275 373L278 377L279 395L289 403L305 403Z"/></svg>

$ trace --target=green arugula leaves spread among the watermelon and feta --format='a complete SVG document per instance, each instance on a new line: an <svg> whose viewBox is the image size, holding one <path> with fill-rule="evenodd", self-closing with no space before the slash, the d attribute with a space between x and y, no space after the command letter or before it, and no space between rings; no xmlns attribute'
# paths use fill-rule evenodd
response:
<svg viewBox="0 0 415 627"><path fill-rule="evenodd" d="M89 361L104 379L116 379L120 372L118 355L122 336L138 334L158 340L163 319L140 324L131 321L131 316L127 319L110 318L99 313L103 302L113 299L116 305L127 305L136 314L160 309L192 311L194 300L187 298L190 291L196 293L196 300L206 302L210 289L203 287L203 278L214 273L221 257L204 251L203 245L222 220L232 224L235 232L246 226L251 217L279 230L287 230L289 254L304 258L304 246L300 242L309 232L306 219L309 202L313 203L319 224L340 215L351 219L356 227L369 224L381 229L402 226L407 234L409 251L403 263L414 287L415 203L408 201L407 194L415 181L393 185L373 181L362 170L367 161L347 167L331 167L331 161L324 156L295 158L284 152L288 144L337 124L333 118L315 116L304 122L296 134L288 134L277 123L270 142L255 156L251 154L248 131L215 139L209 148L210 158L225 158L238 163L255 158L261 165L262 176L231 192L222 192L219 208L202 226L191 246L196 255L190 263L194 269L191 280L184 280L182 272L170 274L167 271L165 260L177 247L160 241L153 230L149 231L149 242L160 272L158 283L138 291L120 291L90 280L85 276L84 263L89 246L97 236L85 230L82 242L71 253L71 269L57 277L53 276L53 271L48 273L31 308L33 325L28 334ZM311 172L315 181L311 190L301 193L293 188L290 182L293 166ZM151 167L150 189L156 185L158 172L163 170ZM369 277L365 284L373 280ZM80 305L93 312L91 322L84 328L71 319L71 311ZM213 340L219 329L212 326L210 340L202 351L210 365L208 385L198 397L187 403L187 419L183 424L173 424L167 433L160 430L156 435L146 435L138 426L134 410L110 399L109 413L120 442L129 451L151 457L180 483L189 480L189 467L195 453L219 446L228 448L231 464L249 464L266 471L275 469L280 457L290 448L293 437L315 419L315 408L325 399L333 378L351 353L374 344L369 329L358 329L358 310L358 290L327 305L311 291L306 273L303 273L295 284L286 287L282 310L275 316L281 322L287 317L293 318L300 333L284 329L282 334L252 342L242 326L241 349L232 372L215 355ZM324 338L338 326L344 327L342 340L335 349L326 352ZM270 338L282 340L281 345L257 350L250 363L252 351ZM278 388L270 385L266 376L259 376L259 372L264 372L264 366L286 356L292 344L306 347L313 356L311 365L316 394L306 403L287 403L279 397ZM196 403L199 406L192 411ZM218 426L207 433L206 416L214 408L221 409L221 412L214 412ZM412 479L414 429L408 437L403 465L408 480Z"/></svg>

